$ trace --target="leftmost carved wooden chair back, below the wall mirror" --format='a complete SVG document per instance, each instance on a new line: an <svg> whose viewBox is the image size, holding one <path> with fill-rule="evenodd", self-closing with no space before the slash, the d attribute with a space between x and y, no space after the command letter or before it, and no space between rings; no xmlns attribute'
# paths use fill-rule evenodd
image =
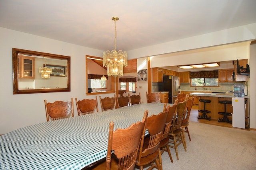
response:
<svg viewBox="0 0 256 170"><path fill-rule="evenodd" d="M70 114L74 117L73 98L71 98L71 102L55 101L54 103L47 103L47 101L44 100L44 106L47 121L49 121L49 116L52 120L67 118Z"/></svg>

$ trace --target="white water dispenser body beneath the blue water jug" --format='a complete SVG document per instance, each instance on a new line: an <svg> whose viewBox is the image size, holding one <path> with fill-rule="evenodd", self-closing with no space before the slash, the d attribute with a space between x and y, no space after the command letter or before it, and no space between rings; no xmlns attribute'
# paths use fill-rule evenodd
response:
<svg viewBox="0 0 256 170"><path fill-rule="evenodd" d="M232 127L245 129L245 104L244 98L232 98Z"/></svg>

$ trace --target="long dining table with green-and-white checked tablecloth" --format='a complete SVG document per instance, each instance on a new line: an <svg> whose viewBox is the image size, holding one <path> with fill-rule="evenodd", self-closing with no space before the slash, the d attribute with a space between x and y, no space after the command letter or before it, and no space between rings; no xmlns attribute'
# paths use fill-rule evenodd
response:
<svg viewBox="0 0 256 170"><path fill-rule="evenodd" d="M170 104L172 105L172 104ZM127 128L163 111L164 103L138 104L43 122L0 136L0 169L80 170L106 157L110 121Z"/></svg>

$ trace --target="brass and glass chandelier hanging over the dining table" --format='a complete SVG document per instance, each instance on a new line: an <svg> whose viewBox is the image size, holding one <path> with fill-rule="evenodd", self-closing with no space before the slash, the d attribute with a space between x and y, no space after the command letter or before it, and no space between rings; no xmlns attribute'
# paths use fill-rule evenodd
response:
<svg viewBox="0 0 256 170"><path fill-rule="evenodd" d="M119 50L116 51L116 21L118 17L112 17L115 21L115 45L111 52L103 52L103 66L107 67L108 76L122 76L124 74L124 66L127 66L127 52Z"/></svg>

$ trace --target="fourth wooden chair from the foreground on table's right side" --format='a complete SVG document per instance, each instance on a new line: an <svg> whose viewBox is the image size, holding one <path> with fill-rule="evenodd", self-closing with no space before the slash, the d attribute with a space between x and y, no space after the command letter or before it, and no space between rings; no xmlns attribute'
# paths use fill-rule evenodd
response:
<svg viewBox="0 0 256 170"><path fill-rule="evenodd" d="M178 145L180 145L180 143L183 144L184 150L186 150L186 146L185 146L185 142L184 142L184 137L182 135L182 120L183 120L183 115L184 115L184 111L186 108L186 103L187 101L183 101L183 102L178 102L178 100L175 100L176 104L177 104L177 112L174 114L174 119L172 121L172 127L169 133L169 147L172 147L175 149L176 152L176 156L177 156L177 160L179 160L178 157Z"/></svg>

